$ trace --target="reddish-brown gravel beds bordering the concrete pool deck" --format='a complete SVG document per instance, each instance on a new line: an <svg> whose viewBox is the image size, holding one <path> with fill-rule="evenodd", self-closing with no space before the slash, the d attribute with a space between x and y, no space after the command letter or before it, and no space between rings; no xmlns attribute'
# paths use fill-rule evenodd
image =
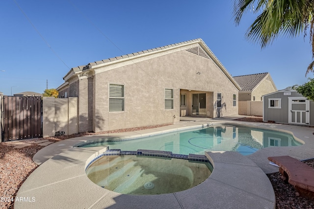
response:
<svg viewBox="0 0 314 209"><path fill-rule="evenodd" d="M260 117L247 118L246 121L260 120ZM166 124L169 125L169 124ZM164 125L161 125L164 126ZM80 133L71 136L58 136L45 138L51 142L56 142L64 139L69 139L73 137L80 137L86 135L96 135L104 133L114 133L114 132L129 132L135 130L142 130L147 128L154 128L159 126L146 126L133 129L123 129L115 130L110 132L102 133ZM17 191L26 178L31 174L33 170L36 169L38 165L32 162L32 157L36 152L43 148L43 146L34 143L38 140L44 139L31 139L22 140L26 146L24 148L15 148L10 142L0 143L0 189L1 189L1 202L0 208L13 209L13 201L16 197ZM314 160L305 162L310 166L314 167ZM314 208L314 201L307 200L299 196L298 192L293 186L285 184L281 180L281 174L272 173L267 174L276 195L276 209L312 209ZM4 201L5 200L5 201Z"/></svg>

